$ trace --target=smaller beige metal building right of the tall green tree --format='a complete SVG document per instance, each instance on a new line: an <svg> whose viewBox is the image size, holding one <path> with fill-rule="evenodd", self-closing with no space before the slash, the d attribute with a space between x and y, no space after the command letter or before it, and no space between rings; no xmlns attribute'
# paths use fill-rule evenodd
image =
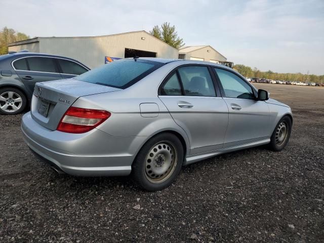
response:
<svg viewBox="0 0 324 243"><path fill-rule="evenodd" d="M211 46L190 46L180 48L179 58L215 63L225 62L227 60L226 57L224 57Z"/></svg>

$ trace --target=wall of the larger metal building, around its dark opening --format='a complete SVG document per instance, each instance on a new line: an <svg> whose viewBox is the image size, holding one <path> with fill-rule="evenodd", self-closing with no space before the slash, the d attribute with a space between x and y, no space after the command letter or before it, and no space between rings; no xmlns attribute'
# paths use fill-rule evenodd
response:
<svg viewBox="0 0 324 243"><path fill-rule="evenodd" d="M39 43L41 53L73 58L90 68L103 65L105 56L124 58L125 48L156 52L160 58L178 58L177 49L146 32L98 37L39 38Z"/></svg>

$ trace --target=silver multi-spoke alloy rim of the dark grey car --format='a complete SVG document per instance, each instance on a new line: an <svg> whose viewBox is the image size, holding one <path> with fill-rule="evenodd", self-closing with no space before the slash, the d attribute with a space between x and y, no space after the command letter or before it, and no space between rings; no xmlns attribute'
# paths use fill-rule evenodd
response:
<svg viewBox="0 0 324 243"><path fill-rule="evenodd" d="M7 91L0 95L0 109L6 112L15 112L22 106L22 99L19 94Z"/></svg>

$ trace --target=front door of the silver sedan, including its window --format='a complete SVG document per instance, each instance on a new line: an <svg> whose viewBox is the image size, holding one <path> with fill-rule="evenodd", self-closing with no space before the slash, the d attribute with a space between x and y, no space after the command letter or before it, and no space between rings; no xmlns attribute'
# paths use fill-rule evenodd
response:
<svg viewBox="0 0 324 243"><path fill-rule="evenodd" d="M234 72L222 68L214 70L229 110L224 147L269 138L272 126L267 103L256 100L252 86Z"/></svg>

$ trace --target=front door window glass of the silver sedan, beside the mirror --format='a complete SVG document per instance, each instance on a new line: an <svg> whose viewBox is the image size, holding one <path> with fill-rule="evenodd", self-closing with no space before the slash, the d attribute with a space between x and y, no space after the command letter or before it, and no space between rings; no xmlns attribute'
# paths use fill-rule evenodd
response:
<svg viewBox="0 0 324 243"><path fill-rule="evenodd" d="M243 79L232 72L215 68L226 97L240 99L254 99L252 88Z"/></svg>

